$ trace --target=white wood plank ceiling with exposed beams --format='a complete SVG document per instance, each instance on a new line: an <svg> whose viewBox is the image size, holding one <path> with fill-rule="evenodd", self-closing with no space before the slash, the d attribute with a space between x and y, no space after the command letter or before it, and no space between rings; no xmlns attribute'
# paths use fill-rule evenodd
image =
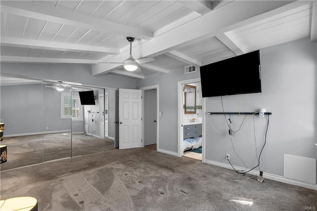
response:
<svg viewBox="0 0 317 211"><path fill-rule="evenodd" d="M263 47L316 40L316 1L1 0L1 62L92 64L144 79ZM127 72L126 37L142 71Z"/></svg>

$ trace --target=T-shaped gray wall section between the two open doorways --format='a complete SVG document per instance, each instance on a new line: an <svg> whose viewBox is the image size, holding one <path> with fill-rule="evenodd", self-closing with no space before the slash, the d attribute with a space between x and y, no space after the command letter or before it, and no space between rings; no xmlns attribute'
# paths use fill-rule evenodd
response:
<svg viewBox="0 0 317 211"><path fill-rule="evenodd" d="M177 152L177 82L199 77L199 72L185 75L182 68L137 81L138 87L159 84L159 111L163 112L159 117L159 149Z"/></svg>

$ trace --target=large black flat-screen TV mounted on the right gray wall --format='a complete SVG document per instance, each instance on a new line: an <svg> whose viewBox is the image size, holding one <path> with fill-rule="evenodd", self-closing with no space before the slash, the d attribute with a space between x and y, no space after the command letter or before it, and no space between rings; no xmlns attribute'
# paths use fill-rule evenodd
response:
<svg viewBox="0 0 317 211"><path fill-rule="evenodd" d="M262 92L260 51L201 66L200 77L203 97Z"/></svg>

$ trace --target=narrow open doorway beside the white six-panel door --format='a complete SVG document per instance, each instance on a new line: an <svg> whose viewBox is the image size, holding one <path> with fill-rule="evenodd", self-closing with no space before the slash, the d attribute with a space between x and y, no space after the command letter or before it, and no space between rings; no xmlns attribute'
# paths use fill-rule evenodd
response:
<svg viewBox="0 0 317 211"><path fill-rule="evenodd" d="M144 91L143 117L144 117L144 146L157 150L159 147L159 87L158 85L142 87Z"/></svg>

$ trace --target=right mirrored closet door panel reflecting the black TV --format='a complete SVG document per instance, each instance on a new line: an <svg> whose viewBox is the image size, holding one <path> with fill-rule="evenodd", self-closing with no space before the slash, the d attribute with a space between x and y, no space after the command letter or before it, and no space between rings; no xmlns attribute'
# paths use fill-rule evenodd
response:
<svg viewBox="0 0 317 211"><path fill-rule="evenodd" d="M71 98L72 156L104 151L104 89L73 85Z"/></svg>

